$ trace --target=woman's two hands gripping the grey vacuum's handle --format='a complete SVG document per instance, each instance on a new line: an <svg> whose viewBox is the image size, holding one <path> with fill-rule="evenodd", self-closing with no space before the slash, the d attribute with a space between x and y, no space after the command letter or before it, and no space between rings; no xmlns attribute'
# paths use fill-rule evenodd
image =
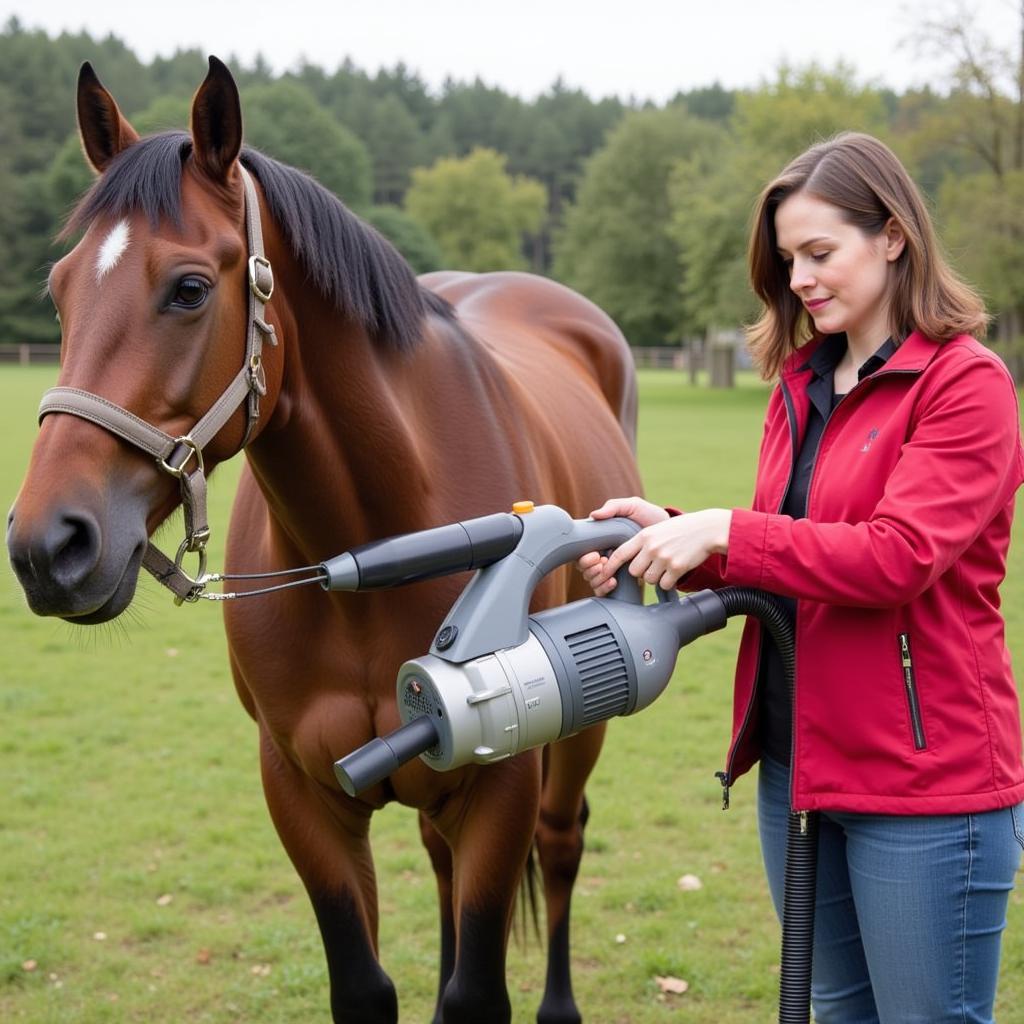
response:
<svg viewBox="0 0 1024 1024"><path fill-rule="evenodd" d="M609 508L612 511L606 512ZM629 565L631 575L663 590L671 590L680 577L696 568L711 555L724 555L729 550L729 526L732 523L729 509L702 509L670 517L664 509L650 502L628 498L605 502L593 513L595 519L612 515L626 515L644 528L620 545L607 558L602 558L598 552L591 552L578 561L584 579L598 597L614 589L614 575L623 565Z"/></svg>

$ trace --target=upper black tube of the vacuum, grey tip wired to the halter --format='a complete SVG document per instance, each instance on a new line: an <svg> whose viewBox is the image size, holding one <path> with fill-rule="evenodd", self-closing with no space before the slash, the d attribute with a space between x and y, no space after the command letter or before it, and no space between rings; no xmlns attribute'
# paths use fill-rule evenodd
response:
<svg viewBox="0 0 1024 1024"><path fill-rule="evenodd" d="M321 563L325 590L383 590L478 569L511 554L522 520L511 512L371 541Z"/></svg>

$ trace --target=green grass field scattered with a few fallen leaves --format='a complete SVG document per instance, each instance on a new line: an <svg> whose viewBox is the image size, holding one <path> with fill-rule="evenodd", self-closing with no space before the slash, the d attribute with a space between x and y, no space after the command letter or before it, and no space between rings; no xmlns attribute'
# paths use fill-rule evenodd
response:
<svg viewBox="0 0 1024 1024"><path fill-rule="evenodd" d="M14 497L49 368L0 370L0 506ZM641 463L652 499L745 504L766 399L681 375L641 376ZM220 564L237 465L213 481ZM167 532L167 545L177 536ZM0 559L0 1021L328 1019L319 939L263 807L215 605L175 608L150 581L130 616L73 629L32 616ZM1005 607L1024 656L1024 539ZM762 878L754 784L720 811L736 624L680 657L656 710L612 723L589 790L575 899L575 989L590 1024L774 1019L778 933ZM412 812L375 819L382 959L401 1020L430 1017L432 877ZM694 874L697 891L678 880ZM1021 887L1024 890L1024 886ZM1012 897L999 1020L1024 1022L1024 892ZM543 955L515 944L514 1019L532 1020ZM658 976L689 983L663 995ZM485 1024L485 1022L481 1022Z"/></svg>

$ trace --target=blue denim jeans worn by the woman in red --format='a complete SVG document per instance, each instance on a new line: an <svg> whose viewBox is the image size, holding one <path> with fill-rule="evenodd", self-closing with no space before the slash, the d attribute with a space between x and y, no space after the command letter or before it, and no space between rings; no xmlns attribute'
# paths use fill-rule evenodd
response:
<svg viewBox="0 0 1024 1024"><path fill-rule="evenodd" d="M758 819L782 909L790 770L762 759ZM816 1024L990 1022L1024 804L984 814L820 814Z"/></svg>

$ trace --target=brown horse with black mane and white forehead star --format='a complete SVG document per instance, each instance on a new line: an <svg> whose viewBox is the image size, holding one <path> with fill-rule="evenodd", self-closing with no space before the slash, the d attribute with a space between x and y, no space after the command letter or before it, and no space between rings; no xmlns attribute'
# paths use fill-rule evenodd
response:
<svg viewBox="0 0 1024 1024"><path fill-rule="evenodd" d="M190 133L139 139L88 65L78 109L100 176L69 224L81 241L50 274L60 388L44 403L7 532L34 611L86 624L118 615L144 557L153 567L148 536L185 484L190 494L203 482L193 464L209 471L243 446L227 561L246 570L316 563L515 499L579 516L638 489L632 359L592 304L518 273L418 282L314 181L243 148L238 90L215 58ZM243 166L257 185L248 203ZM252 216L257 196L265 249L254 253L247 208ZM262 356L256 335L268 342ZM76 404L82 394L93 397ZM188 524L183 552L202 549L204 527ZM573 575L549 575L537 606L583 596ZM435 1021L510 1019L506 944L535 842L550 942L538 1019L580 1020L568 912L602 729L485 768L439 774L416 760L359 799L332 771L398 725L396 669L429 648L464 582L225 604L231 671L258 724L274 825L323 934L336 1021L397 1019L377 959L368 840L389 801L419 811L437 876Z"/></svg>

